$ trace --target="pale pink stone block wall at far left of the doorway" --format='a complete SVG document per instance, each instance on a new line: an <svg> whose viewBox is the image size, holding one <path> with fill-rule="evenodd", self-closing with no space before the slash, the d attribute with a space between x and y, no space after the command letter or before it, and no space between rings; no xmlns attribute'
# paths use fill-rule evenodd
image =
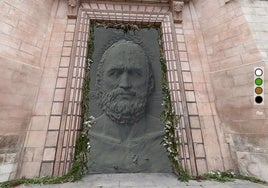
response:
<svg viewBox="0 0 268 188"><path fill-rule="evenodd" d="M0 2L0 181L14 177L41 81L52 0Z"/></svg>

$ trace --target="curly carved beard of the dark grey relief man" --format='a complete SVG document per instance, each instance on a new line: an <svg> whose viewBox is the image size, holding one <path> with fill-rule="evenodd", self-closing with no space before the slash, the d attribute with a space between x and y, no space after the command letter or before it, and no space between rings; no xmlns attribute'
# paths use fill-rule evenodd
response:
<svg viewBox="0 0 268 188"><path fill-rule="evenodd" d="M132 125L138 122L145 114L147 93L133 93L132 100L119 100L116 97L121 93L115 89L109 93L100 94L100 106L105 114L118 124Z"/></svg>

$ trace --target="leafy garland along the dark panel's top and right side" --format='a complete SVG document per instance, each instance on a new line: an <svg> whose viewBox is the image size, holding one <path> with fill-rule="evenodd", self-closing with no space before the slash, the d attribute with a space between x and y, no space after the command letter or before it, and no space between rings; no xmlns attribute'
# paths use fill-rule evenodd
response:
<svg viewBox="0 0 268 188"><path fill-rule="evenodd" d="M170 99L170 92L168 87L168 80L167 80L167 66L166 60L164 57L163 52L163 45L162 45L162 32L160 27L154 25L147 25L147 26L138 26L133 24L124 24L124 23L98 23L95 22L96 27L104 27L104 28L113 28L123 30L126 34L129 31L139 31L140 29L150 29L155 28L158 31L158 42L160 46L160 63L161 63L161 70L162 70L162 94L163 94L163 105L164 110L161 113L161 121L165 124L165 135L162 140L162 144L166 148L168 152L168 157L173 167L174 172L178 175L179 180L181 181L188 181L190 179L190 175L180 164L180 153L178 150L179 146L179 138L175 136L176 126L178 124L178 120L172 110L172 104Z"/></svg>

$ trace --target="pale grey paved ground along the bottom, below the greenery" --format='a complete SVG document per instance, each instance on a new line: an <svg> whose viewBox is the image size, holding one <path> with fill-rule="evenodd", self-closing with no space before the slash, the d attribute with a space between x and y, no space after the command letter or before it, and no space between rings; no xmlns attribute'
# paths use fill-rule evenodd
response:
<svg viewBox="0 0 268 188"><path fill-rule="evenodd" d="M102 174L89 175L76 183L65 183L46 186L20 186L35 188L268 188L268 186L248 181L219 183L215 181L180 182L173 174Z"/></svg>

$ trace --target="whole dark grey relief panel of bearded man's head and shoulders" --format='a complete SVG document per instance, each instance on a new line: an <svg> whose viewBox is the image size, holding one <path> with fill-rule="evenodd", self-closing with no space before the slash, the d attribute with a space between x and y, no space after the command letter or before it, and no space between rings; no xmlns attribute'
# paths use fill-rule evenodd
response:
<svg viewBox="0 0 268 188"><path fill-rule="evenodd" d="M91 76L96 82L89 94L97 118L89 131L90 173L171 172L160 144L164 125L159 119L157 30L125 34L95 29Z"/></svg>

